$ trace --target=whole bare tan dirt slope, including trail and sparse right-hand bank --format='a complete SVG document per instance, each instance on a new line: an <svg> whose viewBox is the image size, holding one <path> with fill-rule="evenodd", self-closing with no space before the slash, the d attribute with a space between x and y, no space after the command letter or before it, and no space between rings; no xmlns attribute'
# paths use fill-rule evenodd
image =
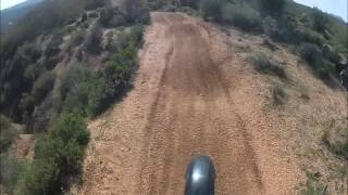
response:
<svg viewBox="0 0 348 195"><path fill-rule="evenodd" d="M316 144L323 126L313 131L307 122L318 112L319 123L346 117L344 94L303 69L287 49L272 52L258 36L228 35L183 14L152 14L134 90L89 125L80 194L182 193L194 155L214 159L217 194L296 194L307 180L301 168L313 165L310 171L330 177L326 160L313 164L298 155L314 148L336 161ZM257 74L246 61L256 51L273 54L293 81ZM273 82L285 84L284 107L269 105ZM308 102L298 94L303 88L310 88ZM344 165L338 160L332 168ZM344 181L331 182L343 193Z"/></svg>

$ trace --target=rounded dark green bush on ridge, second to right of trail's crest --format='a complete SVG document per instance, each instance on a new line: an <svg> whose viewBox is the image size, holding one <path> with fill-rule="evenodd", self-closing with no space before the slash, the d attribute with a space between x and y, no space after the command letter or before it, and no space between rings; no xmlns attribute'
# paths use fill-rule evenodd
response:
<svg viewBox="0 0 348 195"><path fill-rule="evenodd" d="M247 31L262 30L261 20L258 12L246 3L240 5L226 3L223 9L222 21Z"/></svg>

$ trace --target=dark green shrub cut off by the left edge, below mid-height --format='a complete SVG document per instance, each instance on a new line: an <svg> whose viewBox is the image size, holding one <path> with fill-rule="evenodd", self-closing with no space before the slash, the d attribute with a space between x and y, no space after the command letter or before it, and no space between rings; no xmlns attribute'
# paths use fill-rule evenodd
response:
<svg viewBox="0 0 348 195"><path fill-rule="evenodd" d="M0 114L0 153L7 151L12 141L17 136L18 131L11 121Z"/></svg>

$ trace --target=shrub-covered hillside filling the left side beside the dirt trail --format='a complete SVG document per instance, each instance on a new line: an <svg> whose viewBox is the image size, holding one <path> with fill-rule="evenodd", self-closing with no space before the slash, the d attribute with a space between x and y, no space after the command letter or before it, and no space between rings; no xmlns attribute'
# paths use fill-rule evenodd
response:
<svg viewBox="0 0 348 195"><path fill-rule="evenodd" d="M5 194L69 191L89 140L86 119L104 112L132 87L149 21L141 0L120 6L104 0L58 0L35 11L1 40L1 48L9 50L1 51L5 64L0 107L13 119L0 116L0 184ZM87 14L90 11L94 14ZM97 55L103 57L96 69L89 57ZM57 72L59 63L66 68ZM9 151L20 133L13 122L25 125L21 133L35 133L33 159Z"/></svg>

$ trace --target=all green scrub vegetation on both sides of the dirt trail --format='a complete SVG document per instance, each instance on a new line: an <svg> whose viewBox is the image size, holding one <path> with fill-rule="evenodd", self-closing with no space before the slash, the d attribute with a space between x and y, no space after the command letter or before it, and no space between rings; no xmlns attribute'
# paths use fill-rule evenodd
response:
<svg viewBox="0 0 348 195"><path fill-rule="evenodd" d="M89 140L86 120L132 88L150 10L186 12L265 36L293 50L331 87L337 86L347 65L347 24L286 0L121 0L117 6L109 0L46 1L1 34L1 193L69 191ZM271 104L286 105L289 72L263 52L251 53L249 60L257 73L276 80L269 89ZM310 100L307 92L301 96ZM24 126L23 132L15 123ZM33 159L11 154L20 133L35 134ZM322 143L335 157L347 159L347 140L332 141L324 134ZM303 194L325 190L314 180L309 177Z"/></svg>

